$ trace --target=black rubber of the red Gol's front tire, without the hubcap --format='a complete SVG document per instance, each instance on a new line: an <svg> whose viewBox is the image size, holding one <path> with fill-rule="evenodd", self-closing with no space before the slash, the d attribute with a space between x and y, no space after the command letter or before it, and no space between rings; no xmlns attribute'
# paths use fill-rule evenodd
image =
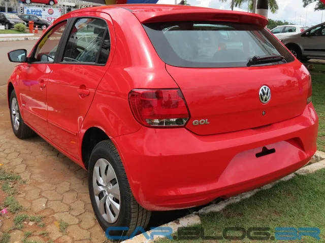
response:
<svg viewBox="0 0 325 243"><path fill-rule="evenodd" d="M9 102L9 108L10 108L10 120L11 120L11 127L12 127L12 130L14 132L14 134L16 135L17 138L20 138L20 139L24 139L24 138L29 138L29 137L32 137L35 135L35 132L31 130L31 128L29 128L23 121L22 117L21 117L21 113L20 113L20 109L19 109L19 105L18 105L18 112L19 112L19 127L18 129L15 128L14 126L14 122L13 122L13 118L12 118L12 101L13 99L16 99L16 102L18 104L18 100L17 100L17 97L16 97L16 93L15 91L13 90L11 92L11 95L10 95L10 102Z"/></svg>

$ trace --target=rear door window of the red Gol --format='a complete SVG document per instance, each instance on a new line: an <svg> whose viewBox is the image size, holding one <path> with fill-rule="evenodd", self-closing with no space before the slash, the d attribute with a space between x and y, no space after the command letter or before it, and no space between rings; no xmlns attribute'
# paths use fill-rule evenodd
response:
<svg viewBox="0 0 325 243"><path fill-rule="evenodd" d="M110 52L110 36L105 20L78 19L69 35L62 62L105 64Z"/></svg>

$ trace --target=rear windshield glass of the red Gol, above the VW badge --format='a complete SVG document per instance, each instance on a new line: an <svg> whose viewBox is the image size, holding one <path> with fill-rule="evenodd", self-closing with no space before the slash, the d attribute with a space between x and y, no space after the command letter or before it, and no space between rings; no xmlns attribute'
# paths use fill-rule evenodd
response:
<svg viewBox="0 0 325 243"><path fill-rule="evenodd" d="M245 67L254 56L295 60L267 29L252 24L165 22L143 25L157 54L177 67Z"/></svg>

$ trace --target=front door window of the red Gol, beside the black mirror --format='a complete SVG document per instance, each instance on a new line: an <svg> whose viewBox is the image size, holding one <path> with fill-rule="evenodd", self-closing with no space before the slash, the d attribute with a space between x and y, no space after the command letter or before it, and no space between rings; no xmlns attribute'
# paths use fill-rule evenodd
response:
<svg viewBox="0 0 325 243"><path fill-rule="evenodd" d="M57 48L66 26L67 21L63 21L46 33L37 46L34 62L54 61L55 56L58 54Z"/></svg>

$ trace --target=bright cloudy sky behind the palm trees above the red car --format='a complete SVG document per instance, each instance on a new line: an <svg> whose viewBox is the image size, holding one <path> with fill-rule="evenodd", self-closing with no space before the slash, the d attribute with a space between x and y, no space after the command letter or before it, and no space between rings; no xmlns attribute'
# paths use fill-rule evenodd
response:
<svg viewBox="0 0 325 243"><path fill-rule="evenodd" d="M180 2L180 0L177 0ZM209 7L215 9L230 9L230 1L228 3L221 3L219 0L187 0L192 6ZM276 14L269 12L269 18L275 20L286 20L288 22L301 24L307 26L313 26L321 23L321 11L314 12L314 4L303 8L302 0L277 0L279 5L279 11ZM175 0L159 0L158 4L174 4ZM247 10L247 5L242 6L243 10ZM307 10L307 20L306 20ZM297 12L297 13L296 13ZM323 11L322 22L325 22L325 11Z"/></svg>

